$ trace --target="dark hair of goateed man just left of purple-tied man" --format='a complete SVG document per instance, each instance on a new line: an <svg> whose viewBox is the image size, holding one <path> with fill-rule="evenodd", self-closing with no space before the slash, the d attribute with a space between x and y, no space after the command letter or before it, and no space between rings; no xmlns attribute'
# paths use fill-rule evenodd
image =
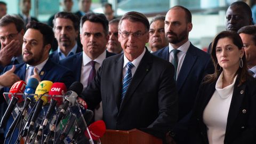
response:
<svg viewBox="0 0 256 144"><path fill-rule="evenodd" d="M79 18L71 12L58 12L54 15L53 27L55 28L55 21L57 18L69 19L73 22L75 30L79 30Z"/></svg>

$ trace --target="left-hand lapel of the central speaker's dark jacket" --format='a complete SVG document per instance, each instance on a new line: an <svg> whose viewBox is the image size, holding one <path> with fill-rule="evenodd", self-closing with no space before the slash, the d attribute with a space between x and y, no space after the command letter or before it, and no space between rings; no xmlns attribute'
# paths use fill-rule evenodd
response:
<svg viewBox="0 0 256 144"><path fill-rule="evenodd" d="M115 74L113 74L113 84L114 86L114 95L116 100L116 106L117 108L120 107L120 98L121 98L121 86L122 86L122 78L123 78L123 63L124 63L124 54L121 54L119 58L116 59L114 70Z"/></svg>

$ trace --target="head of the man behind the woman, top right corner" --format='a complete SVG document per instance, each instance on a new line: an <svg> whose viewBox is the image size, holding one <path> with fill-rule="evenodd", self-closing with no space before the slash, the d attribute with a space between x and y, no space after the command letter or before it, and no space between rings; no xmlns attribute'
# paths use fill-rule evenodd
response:
<svg viewBox="0 0 256 144"><path fill-rule="evenodd" d="M232 3L226 12L226 30L238 31L244 26L252 25L252 11L245 2L237 1ZM207 52L211 53L212 43Z"/></svg>

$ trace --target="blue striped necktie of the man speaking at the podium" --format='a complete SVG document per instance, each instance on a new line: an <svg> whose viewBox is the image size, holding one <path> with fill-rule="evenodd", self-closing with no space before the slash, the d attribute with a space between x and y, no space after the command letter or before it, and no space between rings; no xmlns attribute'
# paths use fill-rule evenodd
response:
<svg viewBox="0 0 256 144"><path fill-rule="evenodd" d="M123 79L123 86L122 86L122 93L121 93L121 102L123 101L124 99L124 95L129 87L129 84L131 83L131 80L132 80L132 67L134 67L134 65L132 64L132 62L128 62L126 64L127 66L127 71L124 75L124 79Z"/></svg>

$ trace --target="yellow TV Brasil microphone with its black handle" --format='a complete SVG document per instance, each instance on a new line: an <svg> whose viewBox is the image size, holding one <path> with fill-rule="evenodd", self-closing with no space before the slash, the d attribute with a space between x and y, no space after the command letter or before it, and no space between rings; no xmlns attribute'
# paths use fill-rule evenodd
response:
<svg viewBox="0 0 256 144"><path fill-rule="evenodd" d="M49 93L49 91L51 90L51 86L52 86L52 82L51 81L42 81L39 83L39 85L36 87L36 93L37 95L34 96L34 98L37 101L37 105L34 111L34 114L31 118L29 127L28 127L28 132L31 131L31 129L33 128L36 119L42 109L42 106L45 105L48 102L48 98L47 96L44 96L44 94ZM39 95L43 95L41 98L39 98Z"/></svg>

